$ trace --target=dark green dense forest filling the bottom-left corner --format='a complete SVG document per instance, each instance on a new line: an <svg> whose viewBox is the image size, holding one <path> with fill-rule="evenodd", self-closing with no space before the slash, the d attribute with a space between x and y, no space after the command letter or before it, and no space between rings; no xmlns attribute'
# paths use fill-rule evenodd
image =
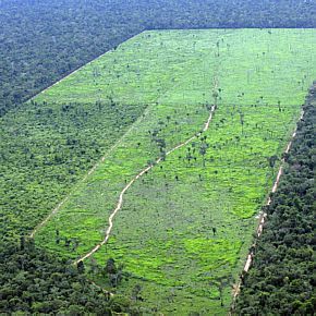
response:
<svg viewBox="0 0 316 316"><path fill-rule="evenodd" d="M37 250L33 241L0 244L0 311L111 315L107 295L74 266ZM129 305L117 309L129 311Z"/></svg>

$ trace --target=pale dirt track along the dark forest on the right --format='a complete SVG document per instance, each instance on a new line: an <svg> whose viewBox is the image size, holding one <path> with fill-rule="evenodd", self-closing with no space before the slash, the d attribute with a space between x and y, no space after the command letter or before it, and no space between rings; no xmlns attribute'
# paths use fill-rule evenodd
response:
<svg viewBox="0 0 316 316"><path fill-rule="evenodd" d="M304 118L304 110L302 110L302 112L301 112L301 117L300 117L300 119L299 119L299 122L302 121L303 118ZM285 148L285 150L284 150L284 154L289 154L289 151L290 151L290 149L291 149L291 147L292 147L293 141L294 141L295 136L296 136L296 133L297 133L297 123L296 123L295 130L294 130L294 132L293 132L293 134L292 134L292 136L291 136L291 139L290 139L290 142L289 142L289 144L288 144L288 146L287 146L287 148ZM276 181L275 181L274 186L272 186L272 189L271 189L271 193L276 193L276 191L277 191L278 187L279 187L280 179L281 179L281 177L282 177L282 174L283 174L284 163L285 163L285 159L282 158L282 159L281 159L281 166L280 166L280 168L279 168L279 171L278 171L278 174L277 174ZM271 200L271 197L269 196L268 199L267 199L266 205L269 206L269 205L271 204L271 202L272 202L272 200ZM258 238L259 238L259 236L262 235L262 233L263 233L264 224L265 224L265 222L266 222L266 219L267 219L267 214L266 214L266 212L262 212L262 214L260 214L260 217L259 217L259 220L258 220L257 231L256 231L256 234L257 234ZM252 250L251 250L251 252L250 252L248 255L247 255L247 259L246 259L246 262L245 262L245 265L244 265L244 268L243 268L242 275L241 275L241 277L240 277L239 283L238 283L238 284L234 287L234 289L233 289L233 303L232 303L232 311L234 311L235 300L236 300L236 297L238 297L238 295L240 294L240 291L241 291L241 285L242 285L242 282L243 282L243 277L244 277L245 274L248 272L248 270L250 270L250 268L251 268L251 266L252 266L253 257L254 257L254 248L255 248L255 246L256 246L256 242L255 242L255 243L252 245L252 247L251 247ZM232 312L230 313L230 315L232 315Z"/></svg>

